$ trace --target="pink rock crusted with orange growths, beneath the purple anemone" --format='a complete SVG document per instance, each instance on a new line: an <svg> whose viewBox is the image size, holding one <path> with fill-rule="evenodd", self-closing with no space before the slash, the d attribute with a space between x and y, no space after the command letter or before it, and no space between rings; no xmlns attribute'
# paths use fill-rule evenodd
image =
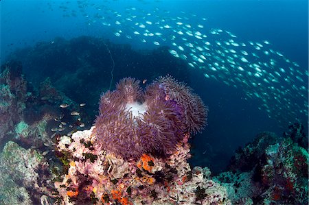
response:
<svg viewBox="0 0 309 205"><path fill-rule="evenodd" d="M95 127L62 136L58 149L67 173L55 182L65 204L229 204L227 191L210 171L190 168L186 134L168 158L142 154L124 160L102 150Z"/></svg>

